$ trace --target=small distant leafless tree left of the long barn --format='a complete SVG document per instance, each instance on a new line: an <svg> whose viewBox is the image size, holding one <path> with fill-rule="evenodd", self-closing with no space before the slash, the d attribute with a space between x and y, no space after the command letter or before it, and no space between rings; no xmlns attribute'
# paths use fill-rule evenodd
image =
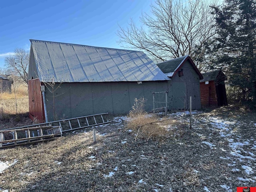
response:
<svg viewBox="0 0 256 192"><path fill-rule="evenodd" d="M14 54L7 56L4 59L5 66L12 73L17 74L23 82L28 84L28 63L29 63L29 52L22 49L16 48Z"/></svg>

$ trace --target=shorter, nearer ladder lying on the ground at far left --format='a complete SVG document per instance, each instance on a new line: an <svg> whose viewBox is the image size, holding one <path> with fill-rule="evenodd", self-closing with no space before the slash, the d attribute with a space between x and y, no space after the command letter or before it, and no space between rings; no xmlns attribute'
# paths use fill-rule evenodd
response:
<svg viewBox="0 0 256 192"><path fill-rule="evenodd" d="M0 147L33 144L62 137L60 126L0 130Z"/></svg>

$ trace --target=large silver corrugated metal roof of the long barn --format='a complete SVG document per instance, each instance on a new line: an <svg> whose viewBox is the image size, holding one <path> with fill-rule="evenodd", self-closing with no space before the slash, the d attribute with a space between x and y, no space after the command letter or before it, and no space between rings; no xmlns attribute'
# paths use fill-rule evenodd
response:
<svg viewBox="0 0 256 192"><path fill-rule="evenodd" d="M143 52L30 40L42 82L170 80Z"/></svg>

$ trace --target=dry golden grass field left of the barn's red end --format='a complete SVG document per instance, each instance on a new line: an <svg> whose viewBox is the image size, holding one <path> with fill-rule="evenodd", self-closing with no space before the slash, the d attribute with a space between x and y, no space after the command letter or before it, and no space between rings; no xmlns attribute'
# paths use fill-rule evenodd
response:
<svg viewBox="0 0 256 192"><path fill-rule="evenodd" d="M17 100L17 113L16 113ZM16 92L0 93L0 129L31 124L28 119L28 87L20 86Z"/></svg>

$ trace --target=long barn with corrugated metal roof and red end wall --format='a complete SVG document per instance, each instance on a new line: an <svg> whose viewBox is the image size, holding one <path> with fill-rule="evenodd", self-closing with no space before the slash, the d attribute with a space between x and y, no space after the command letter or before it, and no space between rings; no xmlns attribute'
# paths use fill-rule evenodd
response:
<svg viewBox="0 0 256 192"><path fill-rule="evenodd" d="M30 40L29 116L41 122L100 114L124 114L135 98L153 108L152 92L170 80L139 51Z"/></svg>

